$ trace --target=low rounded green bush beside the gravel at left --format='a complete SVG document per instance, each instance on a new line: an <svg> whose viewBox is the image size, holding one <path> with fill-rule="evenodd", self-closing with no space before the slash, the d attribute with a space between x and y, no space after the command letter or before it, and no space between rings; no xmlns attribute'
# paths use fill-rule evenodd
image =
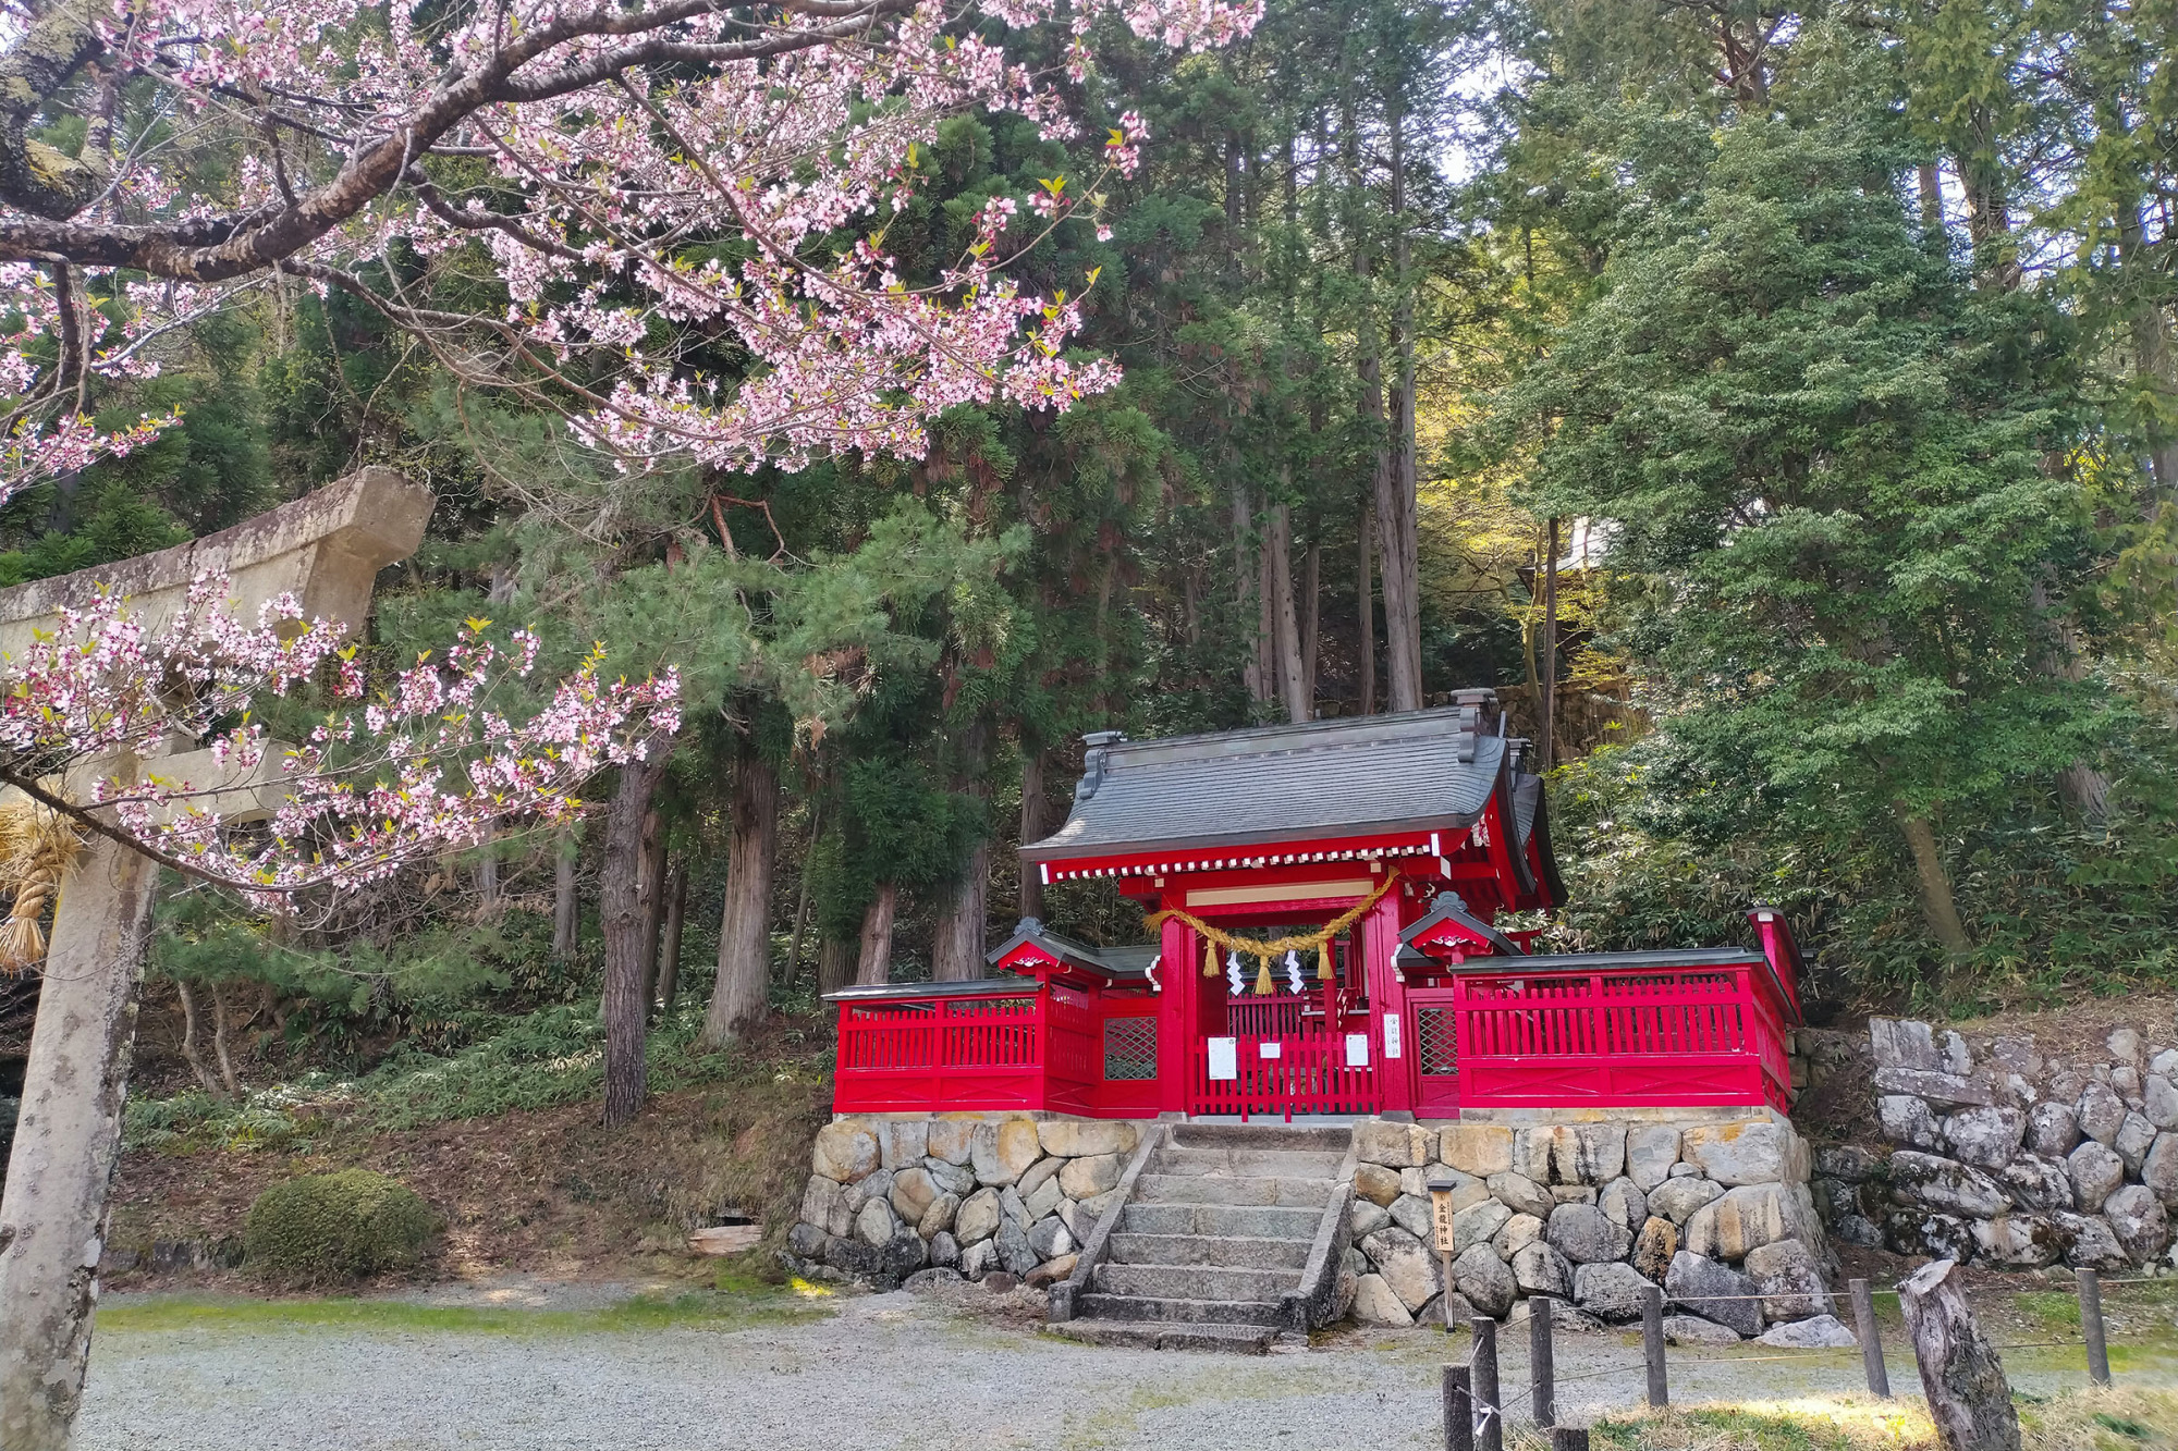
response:
<svg viewBox="0 0 2178 1451"><path fill-rule="evenodd" d="M283 1285L329 1285L423 1257L438 1216L414 1190L370 1170L305 1174L257 1196L242 1227L246 1264Z"/></svg>

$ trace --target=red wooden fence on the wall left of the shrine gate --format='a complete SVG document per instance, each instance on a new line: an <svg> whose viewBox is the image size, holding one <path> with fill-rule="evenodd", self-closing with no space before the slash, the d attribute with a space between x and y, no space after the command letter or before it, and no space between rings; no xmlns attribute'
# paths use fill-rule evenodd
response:
<svg viewBox="0 0 2178 1451"><path fill-rule="evenodd" d="M839 1113L1050 1109L1154 1115L1157 1000L1024 980L839 1004Z"/></svg>

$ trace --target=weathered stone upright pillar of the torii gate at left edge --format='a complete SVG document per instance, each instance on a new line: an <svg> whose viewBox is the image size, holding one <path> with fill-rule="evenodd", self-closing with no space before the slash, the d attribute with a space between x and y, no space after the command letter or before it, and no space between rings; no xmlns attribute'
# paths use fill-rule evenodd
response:
<svg viewBox="0 0 2178 1451"><path fill-rule="evenodd" d="M91 837L61 887L0 1187L0 1447L65 1451L91 1353L159 869Z"/></svg>

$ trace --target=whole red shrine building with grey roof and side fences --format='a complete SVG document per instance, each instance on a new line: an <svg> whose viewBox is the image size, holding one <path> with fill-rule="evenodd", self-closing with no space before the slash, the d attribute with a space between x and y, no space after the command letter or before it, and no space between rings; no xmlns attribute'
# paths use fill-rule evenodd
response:
<svg viewBox="0 0 2178 1451"><path fill-rule="evenodd" d="M1154 937L1028 919L974 983L834 993L839 1113L1457 1120L1784 1111L1799 954L1533 954L1564 904L1542 778L1490 691L1440 710L1089 752L1045 885L1109 880Z"/></svg>

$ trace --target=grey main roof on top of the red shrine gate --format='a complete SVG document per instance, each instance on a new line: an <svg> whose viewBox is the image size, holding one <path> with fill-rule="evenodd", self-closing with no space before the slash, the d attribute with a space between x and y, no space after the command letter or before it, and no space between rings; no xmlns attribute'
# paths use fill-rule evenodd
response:
<svg viewBox="0 0 2178 1451"><path fill-rule="evenodd" d="M1065 826L1026 861L1472 826L1509 741L1488 693L1442 710L1363 715L1163 741L1091 736ZM1529 819L1531 819L1529 810Z"/></svg>

